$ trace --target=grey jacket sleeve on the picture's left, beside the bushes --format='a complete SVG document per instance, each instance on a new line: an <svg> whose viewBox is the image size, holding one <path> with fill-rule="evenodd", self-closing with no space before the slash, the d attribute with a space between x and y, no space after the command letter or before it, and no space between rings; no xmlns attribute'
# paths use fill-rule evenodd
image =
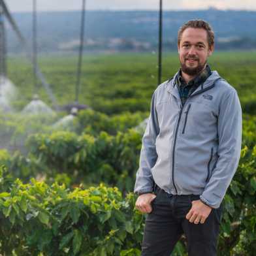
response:
<svg viewBox="0 0 256 256"><path fill-rule="evenodd" d="M146 130L142 137L142 148L140 151L139 168L136 173L136 182L134 192L138 195L150 193L153 191L153 178L151 168L157 161L157 152L155 150L155 139L159 134L159 123L157 120L157 112L155 109L155 92L152 96L150 117Z"/></svg>

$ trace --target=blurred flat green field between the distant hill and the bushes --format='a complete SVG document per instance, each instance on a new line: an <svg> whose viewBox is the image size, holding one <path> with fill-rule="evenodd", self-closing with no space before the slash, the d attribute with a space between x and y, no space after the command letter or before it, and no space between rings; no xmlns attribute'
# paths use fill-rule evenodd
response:
<svg viewBox="0 0 256 256"><path fill-rule="evenodd" d="M58 104L74 101L76 63L74 56L39 57L39 67ZM244 108L254 113L256 52L216 52L209 63L212 70L217 70L238 90ZM172 77L178 68L178 54L164 54L162 80ZM20 98L14 104L16 108L22 108L33 95L31 65L24 58L9 58L8 77L20 89ZM125 110L148 111L156 86L156 54L85 55L79 101L106 114ZM40 88L39 95L50 104L43 88Z"/></svg>

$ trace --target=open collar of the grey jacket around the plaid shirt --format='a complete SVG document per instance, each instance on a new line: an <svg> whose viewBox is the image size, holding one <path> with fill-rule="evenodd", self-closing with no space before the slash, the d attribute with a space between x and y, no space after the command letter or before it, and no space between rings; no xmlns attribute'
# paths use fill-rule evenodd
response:
<svg viewBox="0 0 256 256"><path fill-rule="evenodd" d="M178 76L178 72L176 72L176 74L174 75L173 78L171 78L170 80L168 80L167 84L166 84L166 88L167 91L169 93L171 93L172 95L174 95L174 97L176 98L180 98L180 94L176 85L176 77ZM204 81L203 84L201 84L191 95L196 95L199 93L202 93L203 91L206 91L207 89L211 89L214 87L216 80L219 80L221 77L219 76L217 71L212 71L212 74L206 79L206 81Z"/></svg>

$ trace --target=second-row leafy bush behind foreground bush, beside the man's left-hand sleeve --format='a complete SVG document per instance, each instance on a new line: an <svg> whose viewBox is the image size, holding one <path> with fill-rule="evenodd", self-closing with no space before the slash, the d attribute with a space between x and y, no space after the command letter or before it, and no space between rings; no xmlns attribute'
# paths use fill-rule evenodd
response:
<svg viewBox="0 0 256 256"><path fill-rule="evenodd" d="M116 136L101 132L97 137L59 131L30 136L28 147L49 177L65 172L72 177L73 184L98 184L103 180L131 191L141 135L132 129Z"/></svg>

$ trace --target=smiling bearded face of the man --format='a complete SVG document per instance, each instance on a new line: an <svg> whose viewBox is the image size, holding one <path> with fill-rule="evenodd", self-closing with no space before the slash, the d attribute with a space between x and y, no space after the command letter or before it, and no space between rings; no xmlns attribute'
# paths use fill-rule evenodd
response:
<svg viewBox="0 0 256 256"><path fill-rule="evenodd" d="M182 71L190 76L199 74L213 51L214 46L208 46L207 32L204 29L185 29L178 45Z"/></svg>

